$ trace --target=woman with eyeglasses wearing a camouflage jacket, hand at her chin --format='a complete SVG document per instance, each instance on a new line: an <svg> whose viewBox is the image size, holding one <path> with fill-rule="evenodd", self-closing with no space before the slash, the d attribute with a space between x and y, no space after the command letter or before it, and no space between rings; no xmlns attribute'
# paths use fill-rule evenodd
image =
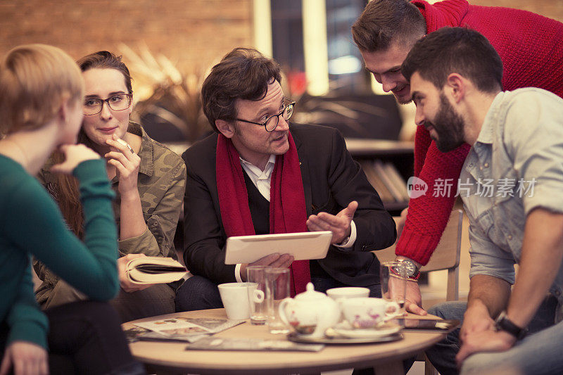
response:
<svg viewBox="0 0 563 375"><path fill-rule="evenodd" d="M151 139L144 129L129 121L132 84L121 58L108 51L77 61L82 70L85 97L84 121L78 141L107 161L106 170L117 199L113 205L118 224L120 293L111 303L123 322L175 312L176 284L137 286L127 279L125 265L139 256L177 258L174 234L182 207L186 167L178 155ZM68 227L84 234L84 220L77 205L77 184L70 177L49 172L55 155L39 179L56 198ZM39 304L49 308L83 296L39 262L34 269L42 285L36 291Z"/></svg>

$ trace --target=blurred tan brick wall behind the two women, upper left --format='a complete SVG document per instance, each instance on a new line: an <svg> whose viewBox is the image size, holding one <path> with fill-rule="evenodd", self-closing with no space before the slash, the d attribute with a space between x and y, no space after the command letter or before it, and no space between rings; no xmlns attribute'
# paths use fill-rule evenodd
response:
<svg viewBox="0 0 563 375"><path fill-rule="evenodd" d="M1 0L0 55L18 44L53 44L73 58L120 42L207 67L252 44L252 0ZM126 61L127 62L127 61Z"/></svg>

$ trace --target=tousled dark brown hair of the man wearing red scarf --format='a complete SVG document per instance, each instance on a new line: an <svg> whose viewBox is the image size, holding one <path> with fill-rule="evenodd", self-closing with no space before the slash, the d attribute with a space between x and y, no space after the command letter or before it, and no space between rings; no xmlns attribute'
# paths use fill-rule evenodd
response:
<svg viewBox="0 0 563 375"><path fill-rule="evenodd" d="M236 99L259 101L268 84L281 82L281 68L255 49L233 49L215 65L201 87L203 113L218 132L215 120L236 120Z"/></svg>

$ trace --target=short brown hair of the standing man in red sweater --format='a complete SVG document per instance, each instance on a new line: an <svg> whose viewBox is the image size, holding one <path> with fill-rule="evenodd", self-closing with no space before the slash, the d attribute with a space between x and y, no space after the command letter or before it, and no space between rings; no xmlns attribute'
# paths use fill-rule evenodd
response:
<svg viewBox="0 0 563 375"><path fill-rule="evenodd" d="M388 49L391 42L407 44L426 34L426 20L407 0L372 0L352 25L352 37L360 51Z"/></svg>

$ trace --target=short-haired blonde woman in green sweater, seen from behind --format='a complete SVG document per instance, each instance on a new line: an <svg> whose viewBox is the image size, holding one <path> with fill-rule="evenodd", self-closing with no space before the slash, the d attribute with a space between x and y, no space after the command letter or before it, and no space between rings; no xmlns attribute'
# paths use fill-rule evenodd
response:
<svg viewBox="0 0 563 375"><path fill-rule="evenodd" d="M76 139L84 83L61 49L30 44L0 62L0 374L144 374L107 301L118 291L106 163ZM33 176L56 149L57 174L80 184L84 242ZM91 300L42 312L30 255ZM72 260L71 260L72 259Z"/></svg>

